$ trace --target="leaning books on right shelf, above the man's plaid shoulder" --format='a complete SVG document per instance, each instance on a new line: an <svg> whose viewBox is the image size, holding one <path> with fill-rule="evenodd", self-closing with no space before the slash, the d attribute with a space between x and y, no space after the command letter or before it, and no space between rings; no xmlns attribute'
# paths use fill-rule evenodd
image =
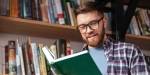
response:
<svg viewBox="0 0 150 75"><path fill-rule="evenodd" d="M150 10L137 8L129 28L131 34L150 35Z"/></svg>

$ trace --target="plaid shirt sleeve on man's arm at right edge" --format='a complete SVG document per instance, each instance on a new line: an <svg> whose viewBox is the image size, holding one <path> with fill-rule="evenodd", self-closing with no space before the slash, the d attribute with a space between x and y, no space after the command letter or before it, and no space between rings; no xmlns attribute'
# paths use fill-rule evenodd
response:
<svg viewBox="0 0 150 75"><path fill-rule="evenodd" d="M133 46L132 57L130 62L131 75L150 75L150 67L146 63L144 54L141 50Z"/></svg>

